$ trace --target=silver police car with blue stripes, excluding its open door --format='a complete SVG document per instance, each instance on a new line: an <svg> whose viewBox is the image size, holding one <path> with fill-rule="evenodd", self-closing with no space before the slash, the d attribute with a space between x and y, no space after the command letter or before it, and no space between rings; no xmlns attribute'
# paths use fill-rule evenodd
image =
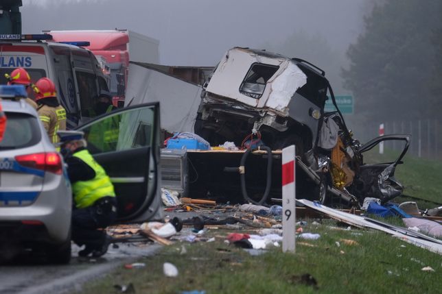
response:
<svg viewBox="0 0 442 294"><path fill-rule="evenodd" d="M71 259L71 184L23 86L0 86L7 117L0 142L0 260L23 249ZM5 255L6 254L6 255Z"/></svg>

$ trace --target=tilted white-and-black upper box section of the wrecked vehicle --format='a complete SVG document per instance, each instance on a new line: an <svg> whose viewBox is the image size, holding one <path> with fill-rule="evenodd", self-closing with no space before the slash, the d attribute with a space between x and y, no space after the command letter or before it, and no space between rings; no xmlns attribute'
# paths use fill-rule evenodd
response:
<svg viewBox="0 0 442 294"><path fill-rule="evenodd" d="M307 83L308 79L308 83ZM272 149L312 149L327 99L324 72L303 60L235 47L205 84L195 132L211 145L241 145L260 132Z"/></svg>

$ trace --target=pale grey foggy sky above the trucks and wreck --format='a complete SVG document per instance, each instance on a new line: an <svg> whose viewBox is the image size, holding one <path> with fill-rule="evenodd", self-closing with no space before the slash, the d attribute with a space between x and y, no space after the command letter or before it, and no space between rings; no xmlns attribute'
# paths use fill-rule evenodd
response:
<svg viewBox="0 0 442 294"><path fill-rule="evenodd" d="M360 34L368 2L23 0L21 12L23 34L43 29L130 29L159 40L161 64L213 66L231 47L265 49L265 44L282 44L295 31L325 38L344 58L349 43Z"/></svg>

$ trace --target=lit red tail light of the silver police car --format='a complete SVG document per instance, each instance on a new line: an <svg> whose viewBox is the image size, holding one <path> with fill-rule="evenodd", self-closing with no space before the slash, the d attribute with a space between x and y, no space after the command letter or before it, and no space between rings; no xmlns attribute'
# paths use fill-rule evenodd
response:
<svg viewBox="0 0 442 294"><path fill-rule="evenodd" d="M61 175L62 162L60 155L56 152L36 153L15 156L15 160L23 167L30 167L32 169L41 169Z"/></svg>

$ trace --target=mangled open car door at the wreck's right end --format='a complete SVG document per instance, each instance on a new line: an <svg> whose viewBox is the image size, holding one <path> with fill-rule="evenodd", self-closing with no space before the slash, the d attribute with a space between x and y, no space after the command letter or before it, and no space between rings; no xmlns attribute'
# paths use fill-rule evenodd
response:
<svg viewBox="0 0 442 294"><path fill-rule="evenodd" d="M381 143L386 144L383 154L375 148ZM395 169L397 164L402 163L409 146L410 135L385 135L360 147L358 152L362 155L363 164L359 167L351 193L361 200L364 197L379 198L382 203L401 195L404 186L395 179Z"/></svg>

